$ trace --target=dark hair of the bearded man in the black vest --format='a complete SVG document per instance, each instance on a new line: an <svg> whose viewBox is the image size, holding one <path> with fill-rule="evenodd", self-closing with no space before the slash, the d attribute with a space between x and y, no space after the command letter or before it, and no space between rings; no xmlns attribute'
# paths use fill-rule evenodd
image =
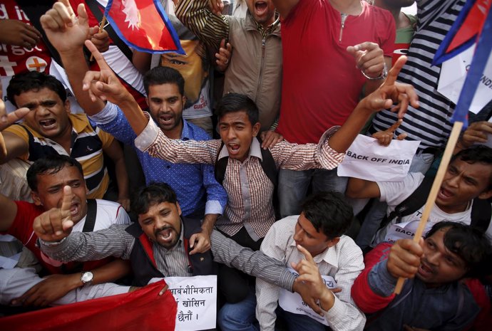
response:
<svg viewBox="0 0 492 331"><path fill-rule="evenodd" d="M166 183L151 182L147 186L140 187L135 192L131 201L131 209L140 215L145 214L149 207L154 204L160 204L162 202L175 204L177 201L175 191L171 186Z"/></svg>

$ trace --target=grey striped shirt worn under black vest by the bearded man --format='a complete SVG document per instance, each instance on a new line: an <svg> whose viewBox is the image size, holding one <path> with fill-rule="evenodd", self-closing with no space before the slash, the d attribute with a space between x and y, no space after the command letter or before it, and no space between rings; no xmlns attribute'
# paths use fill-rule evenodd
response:
<svg viewBox="0 0 492 331"><path fill-rule="evenodd" d="M100 231L72 232L70 236L56 246L48 247L41 241L41 251L56 261L63 262L91 261L108 256L128 260L136 239L125 231L126 227L115 224ZM267 282L276 283L286 290L292 290L294 275L275 258L265 256L260 251L252 251L250 248L242 247L215 230L212 231L210 242L215 262L224 263L249 275L260 277ZM182 243L183 241L180 241L180 246L183 246ZM178 250L180 251L181 248ZM169 265L172 261L168 261L169 256L165 254L166 250L162 246L154 245L153 251L158 269L165 275L166 270L162 267L166 263ZM161 260L159 261L159 259Z"/></svg>

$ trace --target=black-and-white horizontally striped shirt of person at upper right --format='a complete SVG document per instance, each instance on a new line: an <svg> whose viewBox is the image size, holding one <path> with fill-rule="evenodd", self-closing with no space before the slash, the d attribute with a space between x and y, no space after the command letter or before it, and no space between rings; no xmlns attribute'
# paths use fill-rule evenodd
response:
<svg viewBox="0 0 492 331"><path fill-rule="evenodd" d="M408 61L398 80L414 86L420 107L409 105L405 120L395 132L408 134L409 140L420 140L420 147L443 147L451 133L449 119L455 105L437 92L441 65L431 65L432 59L463 8L464 0L418 0L419 23L411 42ZM378 131L386 130L397 120L396 113L384 110L374 117Z"/></svg>

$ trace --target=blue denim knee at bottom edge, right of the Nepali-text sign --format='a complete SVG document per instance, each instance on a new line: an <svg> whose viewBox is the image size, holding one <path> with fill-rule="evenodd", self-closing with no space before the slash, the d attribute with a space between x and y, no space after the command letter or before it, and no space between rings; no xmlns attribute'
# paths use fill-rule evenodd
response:
<svg viewBox="0 0 492 331"><path fill-rule="evenodd" d="M220 308L217 324L222 331L259 331L255 310L255 286L252 285L245 300L239 303L226 303Z"/></svg>

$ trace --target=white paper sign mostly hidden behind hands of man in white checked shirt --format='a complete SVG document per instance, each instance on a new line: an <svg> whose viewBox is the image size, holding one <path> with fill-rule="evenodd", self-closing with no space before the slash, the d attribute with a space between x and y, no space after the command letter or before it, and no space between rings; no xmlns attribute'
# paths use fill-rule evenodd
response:
<svg viewBox="0 0 492 331"><path fill-rule="evenodd" d="M289 268L289 271L295 275L296 277L299 275L295 270ZM337 282L335 282L334 278L329 275L322 275L324 284L327 285L327 288L335 288L337 286ZM292 293L288 290L282 289L280 291L279 297L279 305L283 310L287 312L293 312L294 314L307 315L318 322L329 326L327 320L319 316L314 310L309 308L307 303L304 303L299 293Z"/></svg>

